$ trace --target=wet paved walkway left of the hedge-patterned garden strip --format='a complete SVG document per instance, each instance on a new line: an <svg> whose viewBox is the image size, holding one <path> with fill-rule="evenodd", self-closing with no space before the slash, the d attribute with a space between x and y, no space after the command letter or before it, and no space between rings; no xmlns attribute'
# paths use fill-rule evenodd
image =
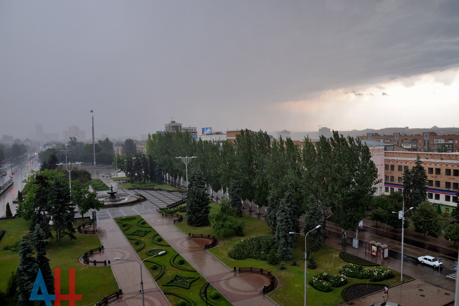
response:
<svg viewBox="0 0 459 306"><path fill-rule="evenodd" d="M123 296L119 306L141 305L140 292L140 265L133 261L118 261L115 257L140 261L132 249L128 240L124 237L118 225L113 219L99 220L97 222L99 238L105 250L102 255L112 263L113 273L118 281L119 288L123 290ZM145 305L147 306L170 306L168 300L159 290L157 284L151 278L145 266L142 265L142 277L144 284Z"/></svg>

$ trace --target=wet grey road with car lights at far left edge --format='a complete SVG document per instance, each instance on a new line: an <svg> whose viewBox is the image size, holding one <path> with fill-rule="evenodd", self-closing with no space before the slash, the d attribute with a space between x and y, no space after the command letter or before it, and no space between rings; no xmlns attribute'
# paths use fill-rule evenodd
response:
<svg viewBox="0 0 459 306"><path fill-rule="evenodd" d="M29 158L32 158L32 157L29 156ZM33 161L34 161L34 163L32 165L28 166L30 168L30 169L28 169L29 170L29 174L30 174L30 171L32 171L32 170L34 170L34 171L38 171L39 170L38 161L36 161L34 159L33 159ZM0 196L0 217L4 217L5 216L6 203L7 202L10 203L11 212L13 212L13 214L14 214L14 212L16 211L17 204L13 204L13 200L16 200L16 198L17 198L17 190L22 190L24 188L25 183L23 183L22 181L24 179L27 179L27 167L26 167L26 158L25 157L22 157L21 161L19 159L13 161L12 164L8 164L8 161L4 161L3 165L5 167L2 167L0 171L2 173L6 172L7 175L6 176L2 176L2 178L0 178L0 180L3 179L2 184L4 182L6 182L8 179L10 179L11 169L12 169L12 172L13 172L13 182L14 182L14 184L10 188L8 188L8 190L3 195ZM22 166L22 169L21 169L21 166Z"/></svg>

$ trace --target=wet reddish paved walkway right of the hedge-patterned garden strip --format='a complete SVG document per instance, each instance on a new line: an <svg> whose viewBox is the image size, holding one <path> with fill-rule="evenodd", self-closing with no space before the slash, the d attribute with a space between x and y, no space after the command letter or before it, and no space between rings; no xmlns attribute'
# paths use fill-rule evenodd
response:
<svg viewBox="0 0 459 306"><path fill-rule="evenodd" d="M159 214L141 217L233 305L276 305L262 293L263 286L269 285L269 278L264 274L233 272L204 250L208 239L189 238L171 223L171 218Z"/></svg>

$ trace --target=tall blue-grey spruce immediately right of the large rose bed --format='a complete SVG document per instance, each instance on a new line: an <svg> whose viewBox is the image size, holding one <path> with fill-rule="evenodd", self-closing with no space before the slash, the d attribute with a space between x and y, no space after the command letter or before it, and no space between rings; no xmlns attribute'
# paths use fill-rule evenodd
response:
<svg viewBox="0 0 459 306"><path fill-rule="evenodd" d="M291 220L290 207L287 206L285 199L280 201L279 212L277 213L276 234L275 240L277 256L289 260L293 257L293 235L289 234L292 231L293 223Z"/></svg>

